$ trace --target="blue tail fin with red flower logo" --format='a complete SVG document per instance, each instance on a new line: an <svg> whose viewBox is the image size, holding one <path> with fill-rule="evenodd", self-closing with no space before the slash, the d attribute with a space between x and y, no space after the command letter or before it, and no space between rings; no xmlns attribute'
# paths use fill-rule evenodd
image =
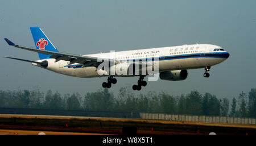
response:
<svg viewBox="0 0 256 146"><path fill-rule="evenodd" d="M30 30L37 49L59 52L40 27L30 27ZM49 56L51 56L42 53L38 53L38 55L40 59L49 59Z"/></svg>

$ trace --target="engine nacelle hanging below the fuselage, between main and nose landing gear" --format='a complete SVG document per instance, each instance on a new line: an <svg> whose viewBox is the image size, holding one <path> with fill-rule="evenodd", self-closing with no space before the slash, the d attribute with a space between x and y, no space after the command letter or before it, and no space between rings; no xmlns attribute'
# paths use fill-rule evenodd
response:
<svg viewBox="0 0 256 146"><path fill-rule="evenodd" d="M188 77L187 70L171 70L159 74L161 80L181 81Z"/></svg>

